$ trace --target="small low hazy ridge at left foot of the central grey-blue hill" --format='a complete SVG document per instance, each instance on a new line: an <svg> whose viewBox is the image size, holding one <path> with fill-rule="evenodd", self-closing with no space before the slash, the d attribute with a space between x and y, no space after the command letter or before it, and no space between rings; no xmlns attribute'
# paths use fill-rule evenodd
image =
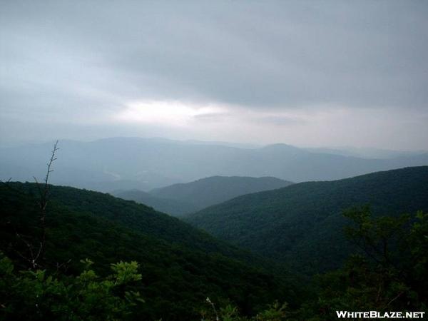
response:
<svg viewBox="0 0 428 321"><path fill-rule="evenodd" d="M117 198L123 198L124 200L134 200L137 203L151 206L156 210L174 216L193 213L200 209L192 203L185 202L183 200L160 198L143 192L142 190L119 190L110 194L116 196Z"/></svg>

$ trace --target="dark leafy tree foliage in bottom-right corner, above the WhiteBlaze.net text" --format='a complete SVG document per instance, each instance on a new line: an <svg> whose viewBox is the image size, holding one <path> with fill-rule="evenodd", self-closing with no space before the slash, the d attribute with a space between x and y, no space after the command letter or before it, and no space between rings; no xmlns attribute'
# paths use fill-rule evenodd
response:
<svg viewBox="0 0 428 321"><path fill-rule="evenodd" d="M317 276L318 300L306 320L335 320L335 311L427 311L428 213L372 218L370 208L345 212L346 234L360 248L344 267Z"/></svg>

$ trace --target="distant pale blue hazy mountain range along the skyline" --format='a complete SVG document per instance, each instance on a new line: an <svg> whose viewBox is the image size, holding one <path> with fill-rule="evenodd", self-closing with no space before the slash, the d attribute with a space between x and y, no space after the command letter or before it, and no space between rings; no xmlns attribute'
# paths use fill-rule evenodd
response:
<svg viewBox="0 0 428 321"><path fill-rule="evenodd" d="M151 190L215 175L335 180L378 170L428 164L428 153L367 159L307 151L285 144L238 148L163 138L61 141L52 183L103 192ZM0 178L43 177L52 143L0 149Z"/></svg>

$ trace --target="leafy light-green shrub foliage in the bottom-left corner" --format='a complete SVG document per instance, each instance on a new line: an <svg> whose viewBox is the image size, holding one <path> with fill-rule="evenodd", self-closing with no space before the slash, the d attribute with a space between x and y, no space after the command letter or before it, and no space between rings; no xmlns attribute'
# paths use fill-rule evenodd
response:
<svg viewBox="0 0 428 321"><path fill-rule="evenodd" d="M111 265L113 274L98 277L91 260L77 277L46 270L14 271L9 258L0 258L0 317L4 320L124 320L144 302L129 288L141 280L138 263Z"/></svg>

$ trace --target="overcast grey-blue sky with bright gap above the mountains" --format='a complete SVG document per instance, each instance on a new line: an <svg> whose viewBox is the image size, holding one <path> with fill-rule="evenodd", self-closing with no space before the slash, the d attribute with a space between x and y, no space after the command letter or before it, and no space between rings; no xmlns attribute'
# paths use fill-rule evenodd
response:
<svg viewBox="0 0 428 321"><path fill-rule="evenodd" d="M428 149L427 1L0 1L0 144Z"/></svg>

